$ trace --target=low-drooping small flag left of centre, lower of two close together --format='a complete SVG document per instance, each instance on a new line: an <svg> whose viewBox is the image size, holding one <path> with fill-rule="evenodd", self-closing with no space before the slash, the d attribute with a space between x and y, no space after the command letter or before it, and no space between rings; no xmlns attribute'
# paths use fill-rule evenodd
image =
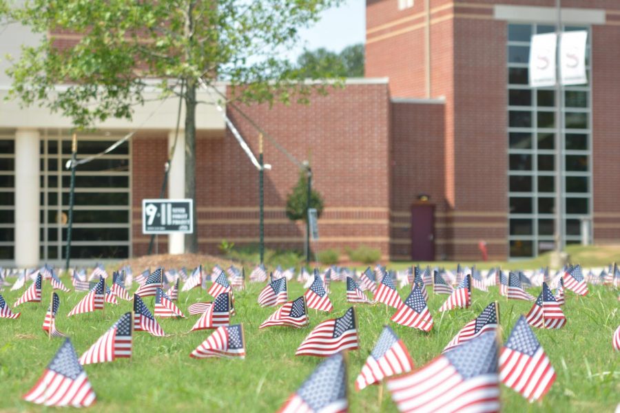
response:
<svg viewBox="0 0 620 413"><path fill-rule="evenodd" d="M216 328L205 341L189 357L194 359L206 359L209 357L239 357L245 359L245 342L243 338L243 326L222 326Z"/></svg>

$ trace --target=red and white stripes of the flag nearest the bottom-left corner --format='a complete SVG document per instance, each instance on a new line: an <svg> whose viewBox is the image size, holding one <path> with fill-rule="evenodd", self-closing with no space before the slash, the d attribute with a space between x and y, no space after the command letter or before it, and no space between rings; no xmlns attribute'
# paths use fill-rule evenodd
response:
<svg viewBox="0 0 620 413"><path fill-rule="evenodd" d="M95 394L85 372L71 380L47 370L23 399L46 406L88 407L94 402Z"/></svg>

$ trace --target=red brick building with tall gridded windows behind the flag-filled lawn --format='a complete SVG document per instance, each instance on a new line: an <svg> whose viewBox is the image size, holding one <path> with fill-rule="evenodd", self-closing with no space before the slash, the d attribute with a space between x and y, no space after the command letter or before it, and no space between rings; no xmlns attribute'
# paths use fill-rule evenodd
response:
<svg viewBox="0 0 620 413"><path fill-rule="evenodd" d="M317 249L344 253L367 244L386 259L468 260L479 257L480 240L497 259L553 248L555 98L552 88L528 87L527 59L530 36L555 30L554 6L367 0L366 78L349 79L310 105L242 107L293 156L311 160L326 207ZM595 243L617 243L620 3L563 0L562 7L564 30L588 30L590 78L564 90L566 242L579 242L585 229ZM36 41L24 28L9 33ZM59 260L70 123L43 109L1 105L0 262ZM214 107L199 111L200 248L216 252L223 239L256 244L258 172ZM227 115L256 153L257 131L231 107ZM147 119L130 142L79 171L76 258L146 252L141 200L158 198L176 103L149 104L134 123L99 125L79 144L81 153L96 153ZM36 156L39 165L25 161ZM284 209L300 171L269 140L265 162L273 166L265 173L267 246L300 249L304 229ZM171 198L183 198L182 164L177 151ZM31 236L37 230L38 244ZM182 239L170 238L158 237L159 252L182 248Z"/></svg>

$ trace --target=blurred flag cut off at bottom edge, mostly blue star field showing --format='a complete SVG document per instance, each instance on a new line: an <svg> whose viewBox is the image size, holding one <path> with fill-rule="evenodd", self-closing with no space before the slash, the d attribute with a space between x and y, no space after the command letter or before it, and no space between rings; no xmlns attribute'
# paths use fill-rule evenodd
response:
<svg viewBox="0 0 620 413"><path fill-rule="evenodd" d="M278 413L342 413L348 408L347 365L338 353L320 363Z"/></svg>

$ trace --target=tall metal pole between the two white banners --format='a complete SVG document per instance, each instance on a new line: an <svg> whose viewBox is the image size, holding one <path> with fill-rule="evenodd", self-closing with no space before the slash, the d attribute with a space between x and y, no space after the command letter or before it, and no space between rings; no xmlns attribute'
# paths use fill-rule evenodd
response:
<svg viewBox="0 0 620 413"><path fill-rule="evenodd" d="M556 104L556 124L557 133L555 134L555 251L561 253L564 250L564 92L562 90L561 70L560 70L560 46L562 33L562 14L561 0L555 0L557 12L557 22L555 34L557 37L556 59L555 59L555 104Z"/></svg>

